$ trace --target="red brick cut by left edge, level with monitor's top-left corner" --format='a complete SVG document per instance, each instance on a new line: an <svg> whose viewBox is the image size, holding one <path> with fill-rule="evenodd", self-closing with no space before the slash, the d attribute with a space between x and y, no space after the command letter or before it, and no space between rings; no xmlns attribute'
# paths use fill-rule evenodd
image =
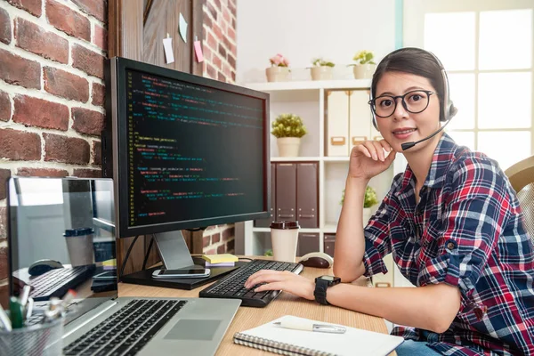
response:
<svg viewBox="0 0 534 356"><path fill-rule="evenodd" d="M12 85L41 89L41 65L0 50L0 79Z"/></svg>

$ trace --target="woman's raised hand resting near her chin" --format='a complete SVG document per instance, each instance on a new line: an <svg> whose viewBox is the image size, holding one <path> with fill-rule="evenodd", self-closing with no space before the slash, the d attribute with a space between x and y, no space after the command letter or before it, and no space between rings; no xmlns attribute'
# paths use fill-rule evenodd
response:
<svg viewBox="0 0 534 356"><path fill-rule="evenodd" d="M386 156L386 153L389 154ZM385 140L366 141L351 151L349 177L369 180L391 166L396 152Z"/></svg>

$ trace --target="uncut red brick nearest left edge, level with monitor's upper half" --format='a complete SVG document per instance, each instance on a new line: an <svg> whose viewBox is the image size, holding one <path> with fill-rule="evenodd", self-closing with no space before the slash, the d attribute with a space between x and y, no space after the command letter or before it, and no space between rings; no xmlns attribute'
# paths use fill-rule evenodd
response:
<svg viewBox="0 0 534 356"><path fill-rule="evenodd" d="M14 122L61 131L67 131L69 128L69 108L63 104L26 95L16 95L13 101Z"/></svg>

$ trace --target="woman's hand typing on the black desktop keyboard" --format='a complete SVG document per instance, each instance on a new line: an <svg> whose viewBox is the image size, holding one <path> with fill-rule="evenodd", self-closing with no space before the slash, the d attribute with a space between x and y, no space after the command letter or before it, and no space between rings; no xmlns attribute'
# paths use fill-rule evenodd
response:
<svg viewBox="0 0 534 356"><path fill-rule="evenodd" d="M315 299L315 296L313 296L315 282L290 271L257 271L255 274L248 277L245 282L245 287L254 287L260 283L265 284L256 287L255 292L262 292L264 290L283 290L284 292L289 292L292 295L297 295L309 300Z"/></svg>

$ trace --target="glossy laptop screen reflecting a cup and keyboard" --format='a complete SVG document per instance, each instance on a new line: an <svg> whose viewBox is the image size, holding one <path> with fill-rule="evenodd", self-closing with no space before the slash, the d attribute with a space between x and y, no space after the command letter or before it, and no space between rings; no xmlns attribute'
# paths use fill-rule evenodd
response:
<svg viewBox="0 0 534 356"><path fill-rule="evenodd" d="M111 179L12 177L8 227L12 295L30 285L46 308L74 290L66 322L117 297Z"/></svg>

